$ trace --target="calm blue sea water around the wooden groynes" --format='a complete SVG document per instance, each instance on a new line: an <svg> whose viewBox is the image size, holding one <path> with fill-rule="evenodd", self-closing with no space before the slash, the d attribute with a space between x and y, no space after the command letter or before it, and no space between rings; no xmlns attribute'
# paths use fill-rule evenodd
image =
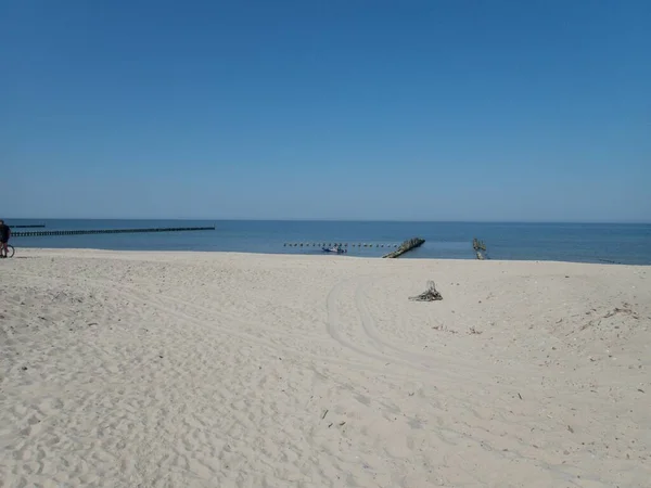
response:
<svg viewBox="0 0 651 488"><path fill-rule="evenodd" d="M425 244L405 258L474 259L472 239L476 236L486 243L492 259L651 265L651 224L47 219L8 219L7 222L10 226L44 223L46 230L216 226L215 231L201 232L14 237L12 243L17 249L320 254L320 247L288 247L284 243L341 242L370 244L372 247L349 246L348 255L372 257L385 254L388 246L406 239L421 236L426 240Z"/></svg>

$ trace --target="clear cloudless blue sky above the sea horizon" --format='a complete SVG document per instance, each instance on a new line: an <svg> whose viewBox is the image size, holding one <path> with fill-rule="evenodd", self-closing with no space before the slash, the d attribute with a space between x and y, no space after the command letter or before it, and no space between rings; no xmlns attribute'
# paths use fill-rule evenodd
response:
<svg viewBox="0 0 651 488"><path fill-rule="evenodd" d="M651 2L0 0L0 214L651 221Z"/></svg>

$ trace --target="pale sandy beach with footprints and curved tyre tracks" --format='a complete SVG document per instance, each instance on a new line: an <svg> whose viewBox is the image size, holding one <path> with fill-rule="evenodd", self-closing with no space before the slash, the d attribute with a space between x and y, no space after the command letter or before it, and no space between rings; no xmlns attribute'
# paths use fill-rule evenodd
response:
<svg viewBox="0 0 651 488"><path fill-rule="evenodd" d="M1 487L651 486L651 268L20 256Z"/></svg>

